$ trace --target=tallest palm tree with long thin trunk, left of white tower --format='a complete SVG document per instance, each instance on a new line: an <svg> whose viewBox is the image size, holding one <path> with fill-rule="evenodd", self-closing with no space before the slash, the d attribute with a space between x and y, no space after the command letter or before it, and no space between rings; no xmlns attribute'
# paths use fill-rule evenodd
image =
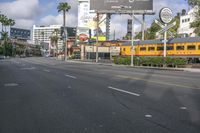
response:
<svg viewBox="0 0 200 133"><path fill-rule="evenodd" d="M66 12L68 12L71 9L71 6L67 2L61 2L57 6L58 12L63 12L63 27L65 29L65 17L66 17ZM64 37L64 60L66 59L66 52L67 52L67 47L66 47L66 36Z"/></svg>

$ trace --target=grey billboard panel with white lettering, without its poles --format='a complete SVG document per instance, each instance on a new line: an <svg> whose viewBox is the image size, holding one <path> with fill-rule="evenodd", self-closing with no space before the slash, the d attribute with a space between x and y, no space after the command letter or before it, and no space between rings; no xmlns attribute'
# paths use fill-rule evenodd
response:
<svg viewBox="0 0 200 133"><path fill-rule="evenodd" d="M153 0L90 0L90 9L96 11L153 10Z"/></svg>

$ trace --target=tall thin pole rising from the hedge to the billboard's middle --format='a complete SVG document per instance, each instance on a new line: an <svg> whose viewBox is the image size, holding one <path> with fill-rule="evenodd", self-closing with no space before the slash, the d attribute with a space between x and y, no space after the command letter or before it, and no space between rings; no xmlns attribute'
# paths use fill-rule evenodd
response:
<svg viewBox="0 0 200 133"><path fill-rule="evenodd" d="M134 41L134 21L135 21L135 15L134 15L134 10L132 11L132 33L131 33L131 66L133 66L134 61L133 61L133 51L134 51L134 46L133 46L133 41Z"/></svg>

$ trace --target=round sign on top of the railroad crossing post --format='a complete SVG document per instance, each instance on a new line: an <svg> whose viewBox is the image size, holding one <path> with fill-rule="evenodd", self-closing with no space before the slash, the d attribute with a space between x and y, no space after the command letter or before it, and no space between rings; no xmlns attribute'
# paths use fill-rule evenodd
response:
<svg viewBox="0 0 200 133"><path fill-rule="evenodd" d="M165 8L162 8L160 10L160 20L165 23L165 24L168 24L172 21L173 19L173 12L170 8L168 7L165 7Z"/></svg>

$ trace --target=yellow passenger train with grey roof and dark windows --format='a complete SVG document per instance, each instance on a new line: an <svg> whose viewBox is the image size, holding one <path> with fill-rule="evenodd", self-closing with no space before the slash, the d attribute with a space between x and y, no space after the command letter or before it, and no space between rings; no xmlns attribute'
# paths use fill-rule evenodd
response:
<svg viewBox="0 0 200 133"><path fill-rule="evenodd" d="M131 42L121 45L121 55L131 56ZM163 56L164 45L161 40L134 42L134 56ZM167 56L200 58L200 37L174 38L167 42Z"/></svg>

